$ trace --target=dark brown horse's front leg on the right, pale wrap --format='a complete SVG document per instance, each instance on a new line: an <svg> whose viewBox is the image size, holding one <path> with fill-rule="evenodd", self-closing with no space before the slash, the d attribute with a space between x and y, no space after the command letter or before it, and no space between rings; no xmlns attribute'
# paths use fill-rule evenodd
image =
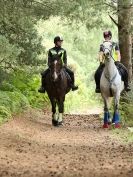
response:
<svg viewBox="0 0 133 177"><path fill-rule="evenodd" d="M58 101L58 108L59 108L59 116L58 116L58 123L62 125L63 123L63 113L64 113L64 100L65 98L60 98Z"/></svg>

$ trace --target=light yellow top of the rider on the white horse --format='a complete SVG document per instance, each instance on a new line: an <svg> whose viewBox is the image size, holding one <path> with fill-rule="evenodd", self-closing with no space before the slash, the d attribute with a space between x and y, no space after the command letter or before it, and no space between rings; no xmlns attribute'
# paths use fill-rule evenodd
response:
<svg viewBox="0 0 133 177"><path fill-rule="evenodd" d="M105 43L108 43L110 45L109 48L111 48L111 55L114 59L114 61L120 61L120 51L119 51L119 46L116 42L112 42L112 41L104 41L101 45L100 45L100 50L99 50L99 60L101 63L105 62L105 57L103 55L104 52L104 47L105 47ZM108 47L107 47L108 48Z"/></svg>

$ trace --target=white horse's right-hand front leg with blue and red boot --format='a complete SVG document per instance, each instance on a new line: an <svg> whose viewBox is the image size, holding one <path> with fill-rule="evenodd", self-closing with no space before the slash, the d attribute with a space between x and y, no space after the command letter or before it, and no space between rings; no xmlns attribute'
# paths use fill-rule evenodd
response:
<svg viewBox="0 0 133 177"><path fill-rule="evenodd" d="M114 98L114 115L113 115L112 123L115 124L115 128L120 128L119 100L120 100L120 93L117 94Z"/></svg>

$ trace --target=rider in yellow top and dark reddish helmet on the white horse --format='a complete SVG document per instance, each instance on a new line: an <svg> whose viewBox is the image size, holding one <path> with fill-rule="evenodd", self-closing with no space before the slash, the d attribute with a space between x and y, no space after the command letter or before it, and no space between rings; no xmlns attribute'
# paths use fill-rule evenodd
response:
<svg viewBox="0 0 133 177"><path fill-rule="evenodd" d="M116 67L119 70L121 76L122 76L122 80L124 81L124 86L125 86L125 91L130 91L130 87L128 84L128 71L126 69L126 67L120 63L121 61L121 55L120 55L120 50L119 50L119 46L117 43L113 42L112 39L112 33L111 31L105 31L103 33L104 42L110 42L110 44L112 45L112 57L115 61ZM103 42L103 43L104 43ZM99 61L100 61L100 66L98 67L96 73L95 73L95 82L96 82L96 93L100 93L100 79L101 79L101 75L102 72L104 70L105 64L104 64L104 48L103 48L103 44L100 45L100 51L99 51Z"/></svg>

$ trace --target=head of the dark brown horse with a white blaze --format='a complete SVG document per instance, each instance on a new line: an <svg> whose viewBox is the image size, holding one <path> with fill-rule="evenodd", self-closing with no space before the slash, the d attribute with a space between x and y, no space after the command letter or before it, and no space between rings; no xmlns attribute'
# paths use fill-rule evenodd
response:
<svg viewBox="0 0 133 177"><path fill-rule="evenodd" d="M62 67L63 67L61 57L62 57L62 54L56 54L53 56L52 61L51 61L50 72L51 72L51 78L54 82L58 80Z"/></svg>

